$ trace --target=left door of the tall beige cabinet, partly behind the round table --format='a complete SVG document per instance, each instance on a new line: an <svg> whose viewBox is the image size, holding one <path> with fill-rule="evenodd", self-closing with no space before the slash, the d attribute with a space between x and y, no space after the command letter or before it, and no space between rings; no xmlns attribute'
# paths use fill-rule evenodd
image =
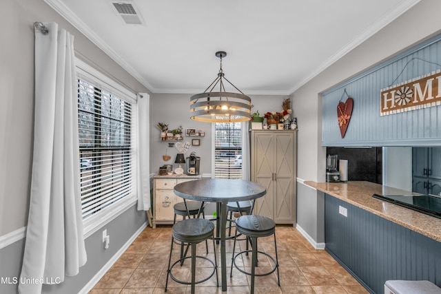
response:
<svg viewBox="0 0 441 294"><path fill-rule="evenodd" d="M274 134L254 132L252 137L252 180L262 184L267 194L256 199L254 214L274 219Z"/></svg>

